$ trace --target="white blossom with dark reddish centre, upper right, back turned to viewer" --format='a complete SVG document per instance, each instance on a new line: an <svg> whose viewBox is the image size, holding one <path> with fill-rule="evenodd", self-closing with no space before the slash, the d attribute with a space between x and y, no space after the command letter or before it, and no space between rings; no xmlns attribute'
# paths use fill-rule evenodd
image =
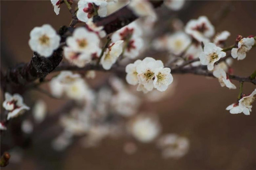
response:
<svg viewBox="0 0 256 170"><path fill-rule="evenodd" d="M206 16L200 16L197 20L190 20L185 27L185 32L195 38L198 42L209 42L214 33L214 26Z"/></svg>

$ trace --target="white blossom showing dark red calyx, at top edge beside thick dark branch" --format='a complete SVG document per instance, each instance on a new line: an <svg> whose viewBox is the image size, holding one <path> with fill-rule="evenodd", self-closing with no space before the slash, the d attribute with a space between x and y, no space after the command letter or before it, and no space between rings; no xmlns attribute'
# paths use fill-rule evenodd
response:
<svg viewBox="0 0 256 170"><path fill-rule="evenodd" d="M82 22L87 22L93 16L106 16L107 15L107 2L104 0L79 0L77 18Z"/></svg>

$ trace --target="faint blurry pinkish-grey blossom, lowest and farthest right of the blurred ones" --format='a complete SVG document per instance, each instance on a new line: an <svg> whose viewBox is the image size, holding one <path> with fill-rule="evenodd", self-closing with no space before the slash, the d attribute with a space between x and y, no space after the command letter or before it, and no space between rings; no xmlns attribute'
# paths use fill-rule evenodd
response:
<svg viewBox="0 0 256 170"><path fill-rule="evenodd" d="M188 139L176 134L166 134L160 137L157 145L162 149L164 158L181 158L189 149Z"/></svg>

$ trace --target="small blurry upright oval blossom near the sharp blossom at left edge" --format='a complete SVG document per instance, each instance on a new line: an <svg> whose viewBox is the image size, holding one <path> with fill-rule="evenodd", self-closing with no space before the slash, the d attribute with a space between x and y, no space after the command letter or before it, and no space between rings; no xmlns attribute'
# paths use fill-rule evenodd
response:
<svg viewBox="0 0 256 170"><path fill-rule="evenodd" d="M44 120L47 114L47 106L44 100L36 101L33 108L33 116L36 122L40 123Z"/></svg>

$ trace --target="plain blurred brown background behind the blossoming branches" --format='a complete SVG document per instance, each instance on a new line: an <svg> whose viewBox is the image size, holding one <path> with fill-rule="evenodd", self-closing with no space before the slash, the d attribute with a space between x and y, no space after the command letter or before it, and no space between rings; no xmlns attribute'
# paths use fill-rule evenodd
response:
<svg viewBox="0 0 256 170"><path fill-rule="evenodd" d="M60 9L60 14L56 16L48 0L1 0L0 3L3 70L20 62L30 61L32 51L28 46L28 40L32 28L48 23L57 30L62 25L68 25L71 19L64 5ZM218 11L223 11L227 6L229 11L221 19L218 18ZM238 34L256 35L256 1L187 1L184 9L179 12L170 12L162 6L157 9L157 13L165 14L165 17L159 18L156 27L165 23L161 26L167 30L168 16L175 15L185 24L198 16L207 16L214 24L216 32L228 30L231 33L227 46L234 44ZM249 76L256 69L255 54L256 48L247 54L245 60L234 60L234 74ZM108 78L110 73L96 74L96 79L99 80L89 81L92 87L102 82L102 79ZM256 102L250 116L230 114L225 108L236 100L238 89L222 88L216 79L203 76L173 76L174 81L177 81L174 94L159 102L145 101L140 110L158 114L162 133L176 133L190 140L190 149L184 157L178 160L163 159L154 143L139 142L136 143L137 152L128 155L123 149L124 144L131 140L127 138L106 138L95 148L82 148L75 140L65 151L56 152L50 146L48 134L44 134L44 138L30 140L22 145L19 148L22 150L22 156L3 169L255 170ZM233 83L239 86L238 82ZM254 88L253 84L244 83L244 93L250 94ZM25 96L43 98L48 104L49 111L56 110L64 103L36 92L30 92ZM2 138L4 136L1 135L1 142Z"/></svg>

